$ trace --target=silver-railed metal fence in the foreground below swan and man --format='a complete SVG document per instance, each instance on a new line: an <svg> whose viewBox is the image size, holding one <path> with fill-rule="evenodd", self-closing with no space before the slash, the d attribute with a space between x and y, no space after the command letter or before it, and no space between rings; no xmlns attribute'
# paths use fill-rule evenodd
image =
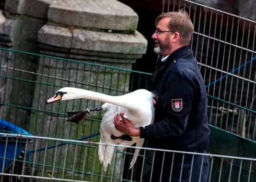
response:
<svg viewBox="0 0 256 182"><path fill-rule="evenodd" d="M12 162L8 166L8 168L0 172L0 174L2 175L1 181L133 181L133 178L131 178L130 180L123 178L123 174L125 173L123 162L124 160L122 160L119 166L113 166L112 168L109 168L109 175L106 175L103 172L103 166L97 166L97 150L99 148L98 142L77 141L70 139L58 139L39 136L27 137L27 135L6 133L0 133L0 135L6 137L6 140L4 142L6 152L8 151L8 143L10 143L10 141L8 141L8 138L12 139L11 142L13 143L13 150L17 150L20 139L22 137L26 138L24 139L24 141L25 144L27 144L25 145L23 151L25 155L21 154L17 159L6 158L6 152L4 153L4 162L8 160L11 160ZM28 148L31 140L33 140L35 145L29 150ZM42 141L44 145L40 145L40 142ZM115 155L118 155L120 153L126 153L127 149L125 149L124 151L118 151L118 146L113 146L115 146ZM39 149L39 147L41 147L41 149ZM42 150L42 147L44 150ZM57 152L59 152L58 148L60 147L62 147L62 151L61 153L57 154ZM69 152L70 148L74 148L75 150L73 152ZM49 154L50 150L52 150L52 154ZM142 174L145 172L144 164L146 164L147 162L145 154L148 152L153 153L153 160L151 161L153 165L155 162L154 157L156 152L162 152L163 155L169 152L174 153L174 155L182 154L182 159L190 155L192 158L192 163L194 157L197 155L205 155L207 157L211 156L212 158L210 158L210 172L208 176L208 181L253 181L255 179L255 173L252 172L252 166L255 166L256 159L238 158L214 154L209 155L191 152L178 152L170 150L150 149L144 147L141 148L141 151L143 151L144 153L141 164L138 164L137 167L133 167L129 172L131 173L131 176L133 176L134 173L141 174L139 176L139 181L142 180ZM59 154L63 154L62 163L59 160ZM41 160L38 156L40 156ZM77 159L80 161L79 163L77 163ZM88 164L88 161L92 161L93 165ZM172 167L172 164L170 165L171 179L172 172L175 169ZM181 161L181 166L182 165L183 160ZM201 166L199 167L202 167L202 165L203 161L201 162ZM86 168L89 168L89 170L86 170ZM15 169L17 169L19 173L14 173ZM162 170L164 169L159 169L159 172L161 172ZM193 168L191 168L190 174L188 174L189 181L191 179L192 173Z"/></svg>

